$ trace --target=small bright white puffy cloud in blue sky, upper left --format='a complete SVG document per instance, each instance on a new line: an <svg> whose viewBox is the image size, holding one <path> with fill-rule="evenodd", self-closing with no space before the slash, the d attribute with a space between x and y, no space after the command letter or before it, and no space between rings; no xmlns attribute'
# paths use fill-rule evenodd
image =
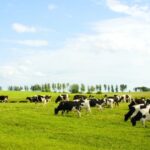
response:
<svg viewBox="0 0 150 150"><path fill-rule="evenodd" d="M37 32L37 29L35 27L27 26L27 25L20 24L20 23L13 23L12 28L14 31L16 31L18 33L24 33L24 32L35 33L35 32Z"/></svg>

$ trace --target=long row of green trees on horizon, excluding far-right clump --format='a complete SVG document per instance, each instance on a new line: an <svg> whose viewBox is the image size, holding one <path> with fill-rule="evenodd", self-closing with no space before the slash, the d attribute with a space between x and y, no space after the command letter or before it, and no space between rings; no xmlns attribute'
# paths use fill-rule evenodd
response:
<svg viewBox="0 0 150 150"><path fill-rule="evenodd" d="M2 87L0 86L0 90ZM34 84L31 86L8 86L9 91L41 91L41 92L70 92L70 93L102 93L102 92L124 92L127 90L126 84L108 85L108 84L70 84L70 83L45 83Z"/></svg>

